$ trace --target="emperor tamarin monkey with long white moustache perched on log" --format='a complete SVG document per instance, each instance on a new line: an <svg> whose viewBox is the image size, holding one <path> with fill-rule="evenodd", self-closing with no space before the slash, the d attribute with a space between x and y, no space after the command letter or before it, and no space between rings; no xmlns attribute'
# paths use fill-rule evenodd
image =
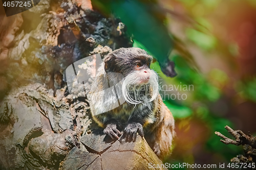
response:
<svg viewBox="0 0 256 170"><path fill-rule="evenodd" d="M159 94L158 74L150 69L152 60L137 47L105 55L88 99L92 117L104 134L131 142L138 132L163 159L170 153L175 124Z"/></svg>

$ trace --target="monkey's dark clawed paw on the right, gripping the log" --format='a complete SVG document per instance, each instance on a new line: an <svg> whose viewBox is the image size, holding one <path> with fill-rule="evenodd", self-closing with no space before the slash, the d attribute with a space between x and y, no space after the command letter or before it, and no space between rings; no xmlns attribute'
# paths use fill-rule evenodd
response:
<svg viewBox="0 0 256 170"><path fill-rule="evenodd" d="M135 142L137 132L141 137L144 136L142 125L140 123L130 123L125 127L123 137L125 137L126 141Z"/></svg>

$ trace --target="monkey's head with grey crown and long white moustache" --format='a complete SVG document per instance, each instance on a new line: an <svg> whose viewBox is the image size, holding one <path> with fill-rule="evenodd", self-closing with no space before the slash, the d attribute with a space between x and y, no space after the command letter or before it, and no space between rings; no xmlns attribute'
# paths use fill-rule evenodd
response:
<svg viewBox="0 0 256 170"><path fill-rule="evenodd" d="M153 101L158 94L158 75L150 69L153 57L140 48L120 48L104 58L105 72L110 79L120 73L122 93L126 102L139 104Z"/></svg>

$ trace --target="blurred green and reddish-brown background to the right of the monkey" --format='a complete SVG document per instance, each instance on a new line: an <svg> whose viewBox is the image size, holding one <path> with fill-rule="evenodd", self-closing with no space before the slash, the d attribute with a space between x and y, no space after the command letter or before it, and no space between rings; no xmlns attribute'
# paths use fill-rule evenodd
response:
<svg viewBox="0 0 256 170"><path fill-rule="evenodd" d="M173 154L165 162L218 166L243 154L241 146L222 143L215 131L232 138L224 129L227 125L256 135L256 1L131 2L127 10L118 1L92 4L105 15L120 17L134 35L133 46L144 48L159 62L156 55L162 55L162 50L154 52L157 45L167 43L167 48L173 49L167 57L175 61L177 77L166 77L158 62L151 65L160 76L160 85L170 87L165 86L163 90L169 91L162 91L163 96L178 92L187 96L186 100L164 98L175 117L177 132ZM138 9L139 15L135 12ZM159 38L161 34L172 43ZM150 39L146 36L158 44L143 41ZM183 90L184 85L193 85L194 90ZM172 90L175 86L178 90Z"/></svg>

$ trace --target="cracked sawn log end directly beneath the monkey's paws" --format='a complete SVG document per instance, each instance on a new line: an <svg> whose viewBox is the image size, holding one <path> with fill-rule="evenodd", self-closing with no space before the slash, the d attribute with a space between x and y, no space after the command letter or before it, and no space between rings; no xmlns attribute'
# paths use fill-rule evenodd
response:
<svg viewBox="0 0 256 170"><path fill-rule="evenodd" d="M60 169L155 169L148 163L163 164L139 135L135 142L111 142L108 136L98 132L82 136L81 142L88 151L74 147Z"/></svg>

